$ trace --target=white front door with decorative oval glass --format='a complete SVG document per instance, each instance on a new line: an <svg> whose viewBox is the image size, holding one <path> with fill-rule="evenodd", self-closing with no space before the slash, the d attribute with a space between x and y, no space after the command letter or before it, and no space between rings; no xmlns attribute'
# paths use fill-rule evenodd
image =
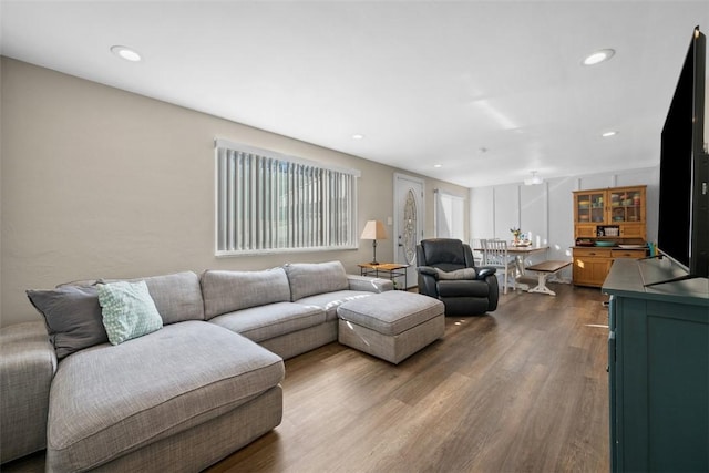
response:
<svg viewBox="0 0 709 473"><path fill-rule="evenodd" d="M407 289L418 285L417 244L423 238L423 181L394 175L394 261L410 265Z"/></svg>

